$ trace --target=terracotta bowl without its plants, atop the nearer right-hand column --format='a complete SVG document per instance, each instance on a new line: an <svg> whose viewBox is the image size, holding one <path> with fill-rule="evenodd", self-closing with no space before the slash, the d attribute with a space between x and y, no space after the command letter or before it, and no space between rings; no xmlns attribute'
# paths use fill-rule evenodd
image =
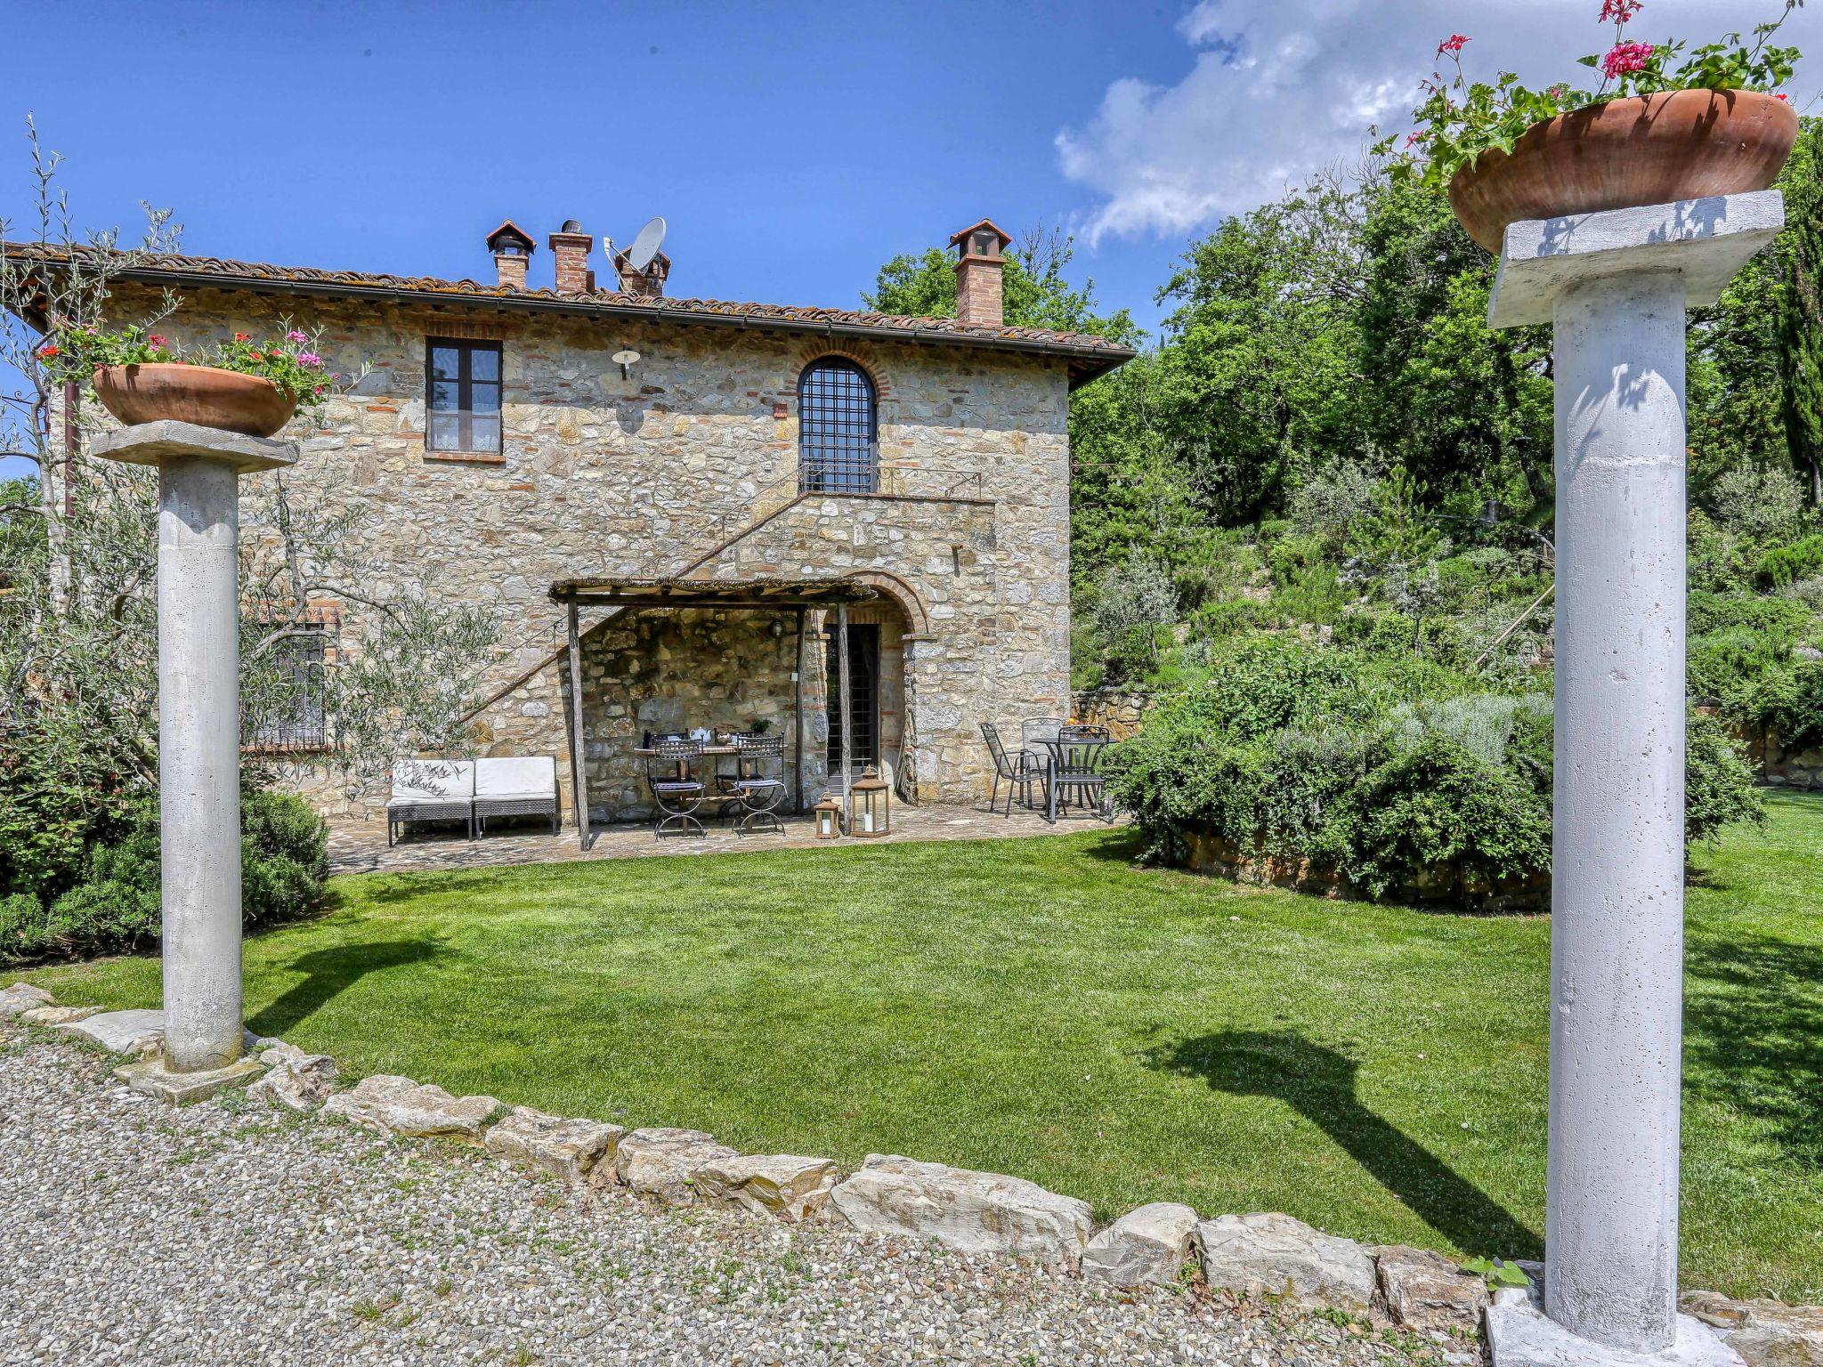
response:
<svg viewBox="0 0 1823 1367"><path fill-rule="evenodd" d="M1797 111L1772 95L1679 89L1533 124L1511 153L1457 171L1449 206L1500 255L1509 222L1766 190L1792 155Z"/></svg>

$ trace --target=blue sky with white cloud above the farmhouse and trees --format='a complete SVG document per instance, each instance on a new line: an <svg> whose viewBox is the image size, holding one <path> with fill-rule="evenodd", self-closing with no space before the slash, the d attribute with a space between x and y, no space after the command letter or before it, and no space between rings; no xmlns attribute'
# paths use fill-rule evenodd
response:
<svg viewBox="0 0 1823 1367"><path fill-rule="evenodd" d="M1708 36L1777 0L1650 0ZM1147 326L1185 242L1358 155L1437 40L1540 84L1606 46L1599 0L0 0L0 215L24 115L80 224L171 206L182 246L487 279L510 217L620 242L671 222L671 293L855 306L882 261L983 213L1077 231ZM1794 36L1823 49L1823 4ZM18 51L15 51L18 57ZM1799 73L1797 97L1814 106ZM596 266L602 261L596 259ZM540 250L532 283L549 283Z"/></svg>

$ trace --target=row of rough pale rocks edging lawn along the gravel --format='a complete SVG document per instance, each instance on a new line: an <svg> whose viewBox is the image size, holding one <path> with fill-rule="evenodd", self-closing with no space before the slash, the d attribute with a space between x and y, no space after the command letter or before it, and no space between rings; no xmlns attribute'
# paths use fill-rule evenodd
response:
<svg viewBox="0 0 1823 1367"><path fill-rule="evenodd" d="M42 988L0 990L0 1024L73 1033L117 1054L148 1057L162 1043L159 1012L58 1006ZM1200 1219L1192 1207L1156 1201L1094 1230L1085 1201L997 1172L870 1154L844 1174L826 1157L740 1154L702 1130L645 1128L458 1097L430 1083L376 1074L335 1090L337 1066L283 1039L248 1033L264 1075L250 1101L321 1112L390 1136L474 1145L490 1157L554 1181L620 1187L664 1205L704 1205L782 1223L842 1219L862 1234L932 1239L964 1254L1025 1258L1116 1287L1159 1287L1192 1270L1210 1290L1300 1309L1345 1310L1435 1341L1478 1336L1489 1303L1529 1300L1444 1254L1404 1245L1365 1247L1291 1216L1254 1212ZM1520 1265L1537 1280L1537 1265ZM1823 1307L1732 1301L1684 1292L1681 1307L1715 1327L1746 1367L1823 1363Z"/></svg>

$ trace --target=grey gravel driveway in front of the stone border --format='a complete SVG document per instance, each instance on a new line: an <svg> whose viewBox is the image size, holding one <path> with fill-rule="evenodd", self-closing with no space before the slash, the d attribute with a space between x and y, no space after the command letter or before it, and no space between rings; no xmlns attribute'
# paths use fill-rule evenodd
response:
<svg viewBox="0 0 1823 1367"><path fill-rule="evenodd" d="M173 1112L111 1063L0 1026L4 1363L1440 1360L1323 1318L594 1199L239 1094Z"/></svg>

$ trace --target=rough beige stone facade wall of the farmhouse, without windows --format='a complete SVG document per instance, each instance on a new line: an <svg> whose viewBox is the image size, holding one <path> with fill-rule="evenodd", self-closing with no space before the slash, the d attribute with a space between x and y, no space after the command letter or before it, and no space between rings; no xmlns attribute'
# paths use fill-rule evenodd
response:
<svg viewBox="0 0 1823 1367"><path fill-rule="evenodd" d="M148 304L131 288L117 301L122 312ZM549 753L567 773L552 581L676 574L716 547L698 576L862 576L886 592L902 640L890 725L922 798L986 791L981 722L1068 705L1063 361L226 290L193 292L160 330L190 346L273 334L284 319L324 330L332 370L365 370L321 421L284 432L303 448L284 476L294 496L374 514L350 547L374 587L421 583L498 623L487 691L521 682L476 718L483 755ZM498 456L425 450L427 335L501 343ZM622 348L642 355L627 377L611 361ZM831 352L879 388L882 492L798 499L797 379ZM585 629L609 616L587 612ZM357 653L350 622L341 647ZM713 673L746 647L702 649ZM618 647L591 642L602 667L603 656L631 667ZM591 716L591 733L607 720ZM620 784L607 769L602 782ZM330 811L363 809L330 786L304 787Z"/></svg>

